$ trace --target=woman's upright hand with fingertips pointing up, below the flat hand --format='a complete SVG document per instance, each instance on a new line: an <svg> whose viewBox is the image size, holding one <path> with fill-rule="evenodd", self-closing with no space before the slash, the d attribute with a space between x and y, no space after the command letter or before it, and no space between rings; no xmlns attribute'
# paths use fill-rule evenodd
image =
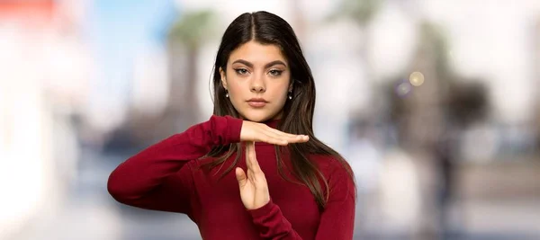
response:
<svg viewBox="0 0 540 240"><path fill-rule="evenodd" d="M254 142L246 143L246 165L247 173L239 167L236 168L236 176L240 185L240 198L246 209L258 209L270 201L270 193L265 173L257 162Z"/></svg>

